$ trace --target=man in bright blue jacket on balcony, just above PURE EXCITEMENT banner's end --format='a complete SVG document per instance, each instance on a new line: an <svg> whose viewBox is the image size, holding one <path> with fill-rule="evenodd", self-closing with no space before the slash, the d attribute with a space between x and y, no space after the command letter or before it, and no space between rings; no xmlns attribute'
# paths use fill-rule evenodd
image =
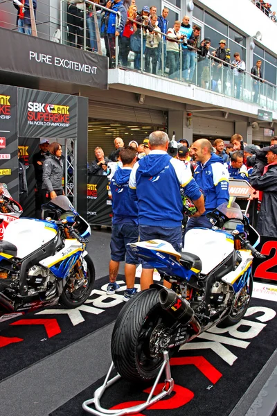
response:
<svg viewBox="0 0 277 416"><path fill-rule="evenodd" d="M106 12L101 26L101 34L104 35L107 57L109 58L109 68L114 68L116 64L116 36L120 36L125 28L127 10L123 6L123 0L109 0L106 7L114 12L120 12L118 21L116 21L115 13Z"/></svg>

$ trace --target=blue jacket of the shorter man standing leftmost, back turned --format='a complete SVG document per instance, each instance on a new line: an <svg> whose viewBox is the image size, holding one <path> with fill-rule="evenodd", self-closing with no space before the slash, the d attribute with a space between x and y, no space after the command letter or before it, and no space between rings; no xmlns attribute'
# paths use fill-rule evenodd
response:
<svg viewBox="0 0 277 416"><path fill-rule="evenodd" d="M137 202L129 198L129 175L131 168L118 168L111 178L113 224L138 224Z"/></svg>

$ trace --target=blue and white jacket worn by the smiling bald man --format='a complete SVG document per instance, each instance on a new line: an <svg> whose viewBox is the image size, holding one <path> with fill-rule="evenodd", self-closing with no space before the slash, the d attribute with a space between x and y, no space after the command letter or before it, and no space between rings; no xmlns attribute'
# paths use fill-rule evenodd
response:
<svg viewBox="0 0 277 416"><path fill-rule="evenodd" d="M222 157L212 153L204 165L198 162L194 177L204 192L206 213L229 201L229 173Z"/></svg>

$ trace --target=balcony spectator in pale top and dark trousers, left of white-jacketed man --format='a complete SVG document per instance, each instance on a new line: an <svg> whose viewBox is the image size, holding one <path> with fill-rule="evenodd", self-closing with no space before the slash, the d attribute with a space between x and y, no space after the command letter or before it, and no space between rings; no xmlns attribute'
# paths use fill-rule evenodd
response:
<svg viewBox="0 0 277 416"><path fill-rule="evenodd" d="M145 71L150 72L150 61L152 64L152 73L156 75L157 73L157 63L159 59L158 46L161 42L161 29L157 25L158 16L151 16L151 24L155 31L151 31L146 35L146 47L145 47ZM156 32L157 31L157 32Z"/></svg>

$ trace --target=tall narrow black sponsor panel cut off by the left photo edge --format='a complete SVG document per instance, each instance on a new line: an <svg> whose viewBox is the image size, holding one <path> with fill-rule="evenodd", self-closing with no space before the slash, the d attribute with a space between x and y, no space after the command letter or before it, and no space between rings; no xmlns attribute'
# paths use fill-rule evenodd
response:
<svg viewBox="0 0 277 416"><path fill-rule="evenodd" d="M18 196L17 87L0 85L0 182Z"/></svg>

